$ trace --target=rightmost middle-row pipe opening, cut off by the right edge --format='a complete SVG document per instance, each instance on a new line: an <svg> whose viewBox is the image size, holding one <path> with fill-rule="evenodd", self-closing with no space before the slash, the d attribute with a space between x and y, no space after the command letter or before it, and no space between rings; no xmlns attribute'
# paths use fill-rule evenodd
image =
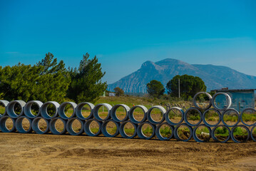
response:
<svg viewBox="0 0 256 171"><path fill-rule="evenodd" d="M246 108L245 110L242 110L242 113L240 115L241 122L250 127L256 125L256 110L255 108Z"/></svg>

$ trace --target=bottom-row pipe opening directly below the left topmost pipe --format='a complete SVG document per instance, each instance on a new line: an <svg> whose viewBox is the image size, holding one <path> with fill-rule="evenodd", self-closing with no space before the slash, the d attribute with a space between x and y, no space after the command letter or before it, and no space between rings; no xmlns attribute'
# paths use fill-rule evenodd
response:
<svg viewBox="0 0 256 171"><path fill-rule="evenodd" d="M204 124L196 126L193 130L193 138L196 142L209 142L212 130Z"/></svg>

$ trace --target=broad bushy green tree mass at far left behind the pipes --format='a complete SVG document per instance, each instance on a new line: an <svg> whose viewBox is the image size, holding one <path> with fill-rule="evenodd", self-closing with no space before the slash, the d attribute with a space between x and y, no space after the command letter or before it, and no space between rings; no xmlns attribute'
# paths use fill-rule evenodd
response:
<svg viewBox="0 0 256 171"><path fill-rule="evenodd" d="M51 53L34 66L18 63L0 67L0 93L6 100L62 102L70 83L63 61Z"/></svg>

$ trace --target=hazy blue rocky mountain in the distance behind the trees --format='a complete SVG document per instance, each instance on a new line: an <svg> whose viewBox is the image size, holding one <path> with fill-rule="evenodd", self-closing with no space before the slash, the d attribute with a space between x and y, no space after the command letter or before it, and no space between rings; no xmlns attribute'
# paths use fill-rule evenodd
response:
<svg viewBox="0 0 256 171"><path fill-rule="evenodd" d="M146 61L134 73L108 85L108 90L120 87L126 93L145 93L146 84L157 80L166 86L176 75L188 74L203 79L208 90L228 88L256 88L256 77L248 76L226 66L189 64L172 58L153 63Z"/></svg>

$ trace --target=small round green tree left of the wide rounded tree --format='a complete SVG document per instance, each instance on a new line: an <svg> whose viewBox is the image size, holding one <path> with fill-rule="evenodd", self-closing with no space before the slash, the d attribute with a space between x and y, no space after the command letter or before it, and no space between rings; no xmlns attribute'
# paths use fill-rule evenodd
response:
<svg viewBox="0 0 256 171"><path fill-rule="evenodd" d="M153 97L159 98L160 95L165 93L165 88L160 81L153 80L147 84L147 91Z"/></svg>

